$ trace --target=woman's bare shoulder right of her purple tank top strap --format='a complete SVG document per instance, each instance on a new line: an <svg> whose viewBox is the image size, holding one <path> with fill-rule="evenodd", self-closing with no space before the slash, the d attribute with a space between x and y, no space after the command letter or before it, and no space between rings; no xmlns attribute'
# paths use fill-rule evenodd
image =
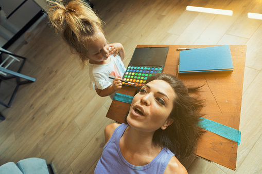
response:
<svg viewBox="0 0 262 174"><path fill-rule="evenodd" d="M186 168L173 156L166 166L164 174L167 173L187 173Z"/></svg>

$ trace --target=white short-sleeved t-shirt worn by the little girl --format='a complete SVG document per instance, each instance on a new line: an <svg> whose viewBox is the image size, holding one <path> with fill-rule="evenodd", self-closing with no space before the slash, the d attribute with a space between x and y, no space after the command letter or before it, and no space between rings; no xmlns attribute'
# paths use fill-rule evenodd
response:
<svg viewBox="0 0 262 174"><path fill-rule="evenodd" d="M109 79L109 77L116 78L120 75L121 78L123 78L125 71L126 68L118 54L116 56L110 55L110 63L108 64L89 64L89 89L105 89L113 83L113 80ZM110 95L111 99L113 99L114 94L115 93L111 94L112 96Z"/></svg>

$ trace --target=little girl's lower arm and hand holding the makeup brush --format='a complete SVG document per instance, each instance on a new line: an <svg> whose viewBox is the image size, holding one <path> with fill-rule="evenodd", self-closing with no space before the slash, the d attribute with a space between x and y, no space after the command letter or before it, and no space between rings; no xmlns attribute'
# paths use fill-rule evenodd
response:
<svg viewBox="0 0 262 174"><path fill-rule="evenodd" d="M122 87L122 82L120 80L122 80L120 76L118 78L115 78L115 80L113 80L112 85L110 85L109 87L105 89L96 89L96 93L99 96L108 96L114 93L115 91L117 91L118 89L121 89Z"/></svg>

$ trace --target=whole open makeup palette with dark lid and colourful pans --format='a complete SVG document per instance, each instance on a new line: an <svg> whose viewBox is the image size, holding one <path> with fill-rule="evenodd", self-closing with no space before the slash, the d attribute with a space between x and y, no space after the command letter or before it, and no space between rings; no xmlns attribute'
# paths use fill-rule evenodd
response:
<svg viewBox="0 0 262 174"><path fill-rule="evenodd" d="M166 63L169 47L135 48L131 61L123 76L126 86L143 86L150 76L162 73Z"/></svg>

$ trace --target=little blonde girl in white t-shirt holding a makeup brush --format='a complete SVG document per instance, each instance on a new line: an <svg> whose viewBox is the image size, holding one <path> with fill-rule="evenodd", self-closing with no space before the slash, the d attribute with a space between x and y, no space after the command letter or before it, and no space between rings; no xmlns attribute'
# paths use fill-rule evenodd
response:
<svg viewBox="0 0 262 174"><path fill-rule="evenodd" d="M62 31L64 40L79 56L82 65L89 62L89 88L95 89L100 96L110 95L113 99L122 86L121 76L126 71L122 62L125 58L123 45L107 44L102 21L84 1L69 1L67 4L54 0L47 2L51 24Z"/></svg>

